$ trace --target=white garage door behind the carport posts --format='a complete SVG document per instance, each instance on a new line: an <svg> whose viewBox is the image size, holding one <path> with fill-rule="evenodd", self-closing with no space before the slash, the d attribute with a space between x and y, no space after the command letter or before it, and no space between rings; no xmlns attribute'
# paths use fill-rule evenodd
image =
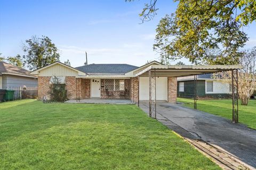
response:
<svg viewBox="0 0 256 170"><path fill-rule="evenodd" d="M149 100L148 77L140 77L140 100ZM167 77L156 77L156 100L167 101Z"/></svg>

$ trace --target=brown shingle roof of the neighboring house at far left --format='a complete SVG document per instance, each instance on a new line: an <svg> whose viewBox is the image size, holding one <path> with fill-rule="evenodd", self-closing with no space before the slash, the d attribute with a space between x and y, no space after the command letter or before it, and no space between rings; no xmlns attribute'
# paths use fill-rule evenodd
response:
<svg viewBox="0 0 256 170"><path fill-rule="evenodd" d="M25 76L33 76L36 78L36 76L31 75L30 72L26 69L13 66L12 64L6 63L4 61L0 61L0 75L2 75L2 72L5 72L6 74L10 73L10 74L25 75Z"/></svg>

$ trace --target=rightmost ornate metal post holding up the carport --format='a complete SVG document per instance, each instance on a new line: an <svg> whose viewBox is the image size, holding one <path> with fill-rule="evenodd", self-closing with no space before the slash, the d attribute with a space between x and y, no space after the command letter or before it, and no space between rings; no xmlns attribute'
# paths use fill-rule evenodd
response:
<svg viewBox="0 0 256 170"><path fill-rule="evenodd" d="M238 123L238 70L231 71L232 78L232 121Z"/></svg>

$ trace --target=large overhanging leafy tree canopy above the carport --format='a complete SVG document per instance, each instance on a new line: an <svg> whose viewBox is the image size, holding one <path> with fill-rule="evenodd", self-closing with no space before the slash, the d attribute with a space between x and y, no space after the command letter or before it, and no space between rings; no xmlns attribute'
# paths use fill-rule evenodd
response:
<svg viewBox="0 0 256 170"><path fill-rule="evenodd" d="M128 1L128 0L127 0ZM157 0L146 4L143 21L154 17ZM161 58L187 58L195 64L235 64L238 49L248 40L241 30L256 19L254 0L182 0L174 13L161 19L156 28L154 50Z"/></svg>

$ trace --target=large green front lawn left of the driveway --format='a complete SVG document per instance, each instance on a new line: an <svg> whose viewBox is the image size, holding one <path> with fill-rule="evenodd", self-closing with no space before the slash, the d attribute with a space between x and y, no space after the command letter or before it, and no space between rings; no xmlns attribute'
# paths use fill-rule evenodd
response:
<svg viewBox="0 0 256 170"><path fill-rule="evenodd" d="M0 169L220 169L135 105L0 103Z"/></svg>

